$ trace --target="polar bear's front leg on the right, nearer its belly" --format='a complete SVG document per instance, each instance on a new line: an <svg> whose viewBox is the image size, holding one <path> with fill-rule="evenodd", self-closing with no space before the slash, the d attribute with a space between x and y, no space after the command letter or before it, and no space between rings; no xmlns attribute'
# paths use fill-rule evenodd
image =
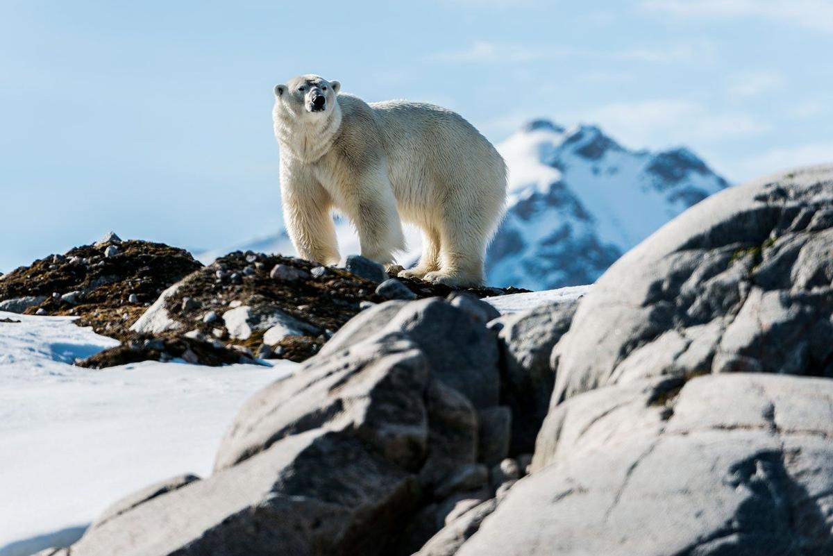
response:
<svg viewBox="0 0 833 556"><path fill-rule="evenodd" d="M359 234L362 256L390 265L393 252L405 249L402 221L391 182L383 168L363 172L349 187L347 213Z"/></svg>

